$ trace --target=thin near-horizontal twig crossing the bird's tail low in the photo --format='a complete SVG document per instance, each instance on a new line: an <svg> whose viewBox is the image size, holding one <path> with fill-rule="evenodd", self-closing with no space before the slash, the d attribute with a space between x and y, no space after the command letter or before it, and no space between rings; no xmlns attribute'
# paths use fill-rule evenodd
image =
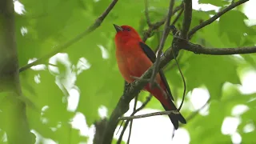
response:
<svg viewBox="0 0 256 144"><path fill-rule="evenodd" d="M169 110L169 111L159 111L155 113L150 113L150 114L141 114L141 115L135 115L135 116L130 116L130 117L121 117L119 120L131 120L131 119L136 119L136 118L146 118L146 117L152 117L156 115L172 115L172 114L180 114L177 110Z"/></svg>

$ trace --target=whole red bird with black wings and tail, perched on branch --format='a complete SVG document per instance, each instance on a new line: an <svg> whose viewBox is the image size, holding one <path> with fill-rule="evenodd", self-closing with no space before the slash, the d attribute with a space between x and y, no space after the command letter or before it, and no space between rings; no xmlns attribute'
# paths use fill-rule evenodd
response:
<svg viewBox="0 0 256 144"><path fill-rule="evenodd" d="M134 77L141 77L153 65L156 56L153 50L142 42L142 38L140 38L134 28L117 25L114 25L114 28L117 31L114 41L118 68L126 82L134 82ZM150 89L149 83L146 84L144 90L154 95L162 103L165 110L177 110L172 101L174 98L170 93L170 87L162 70L157 74L156 82L158 82L162 90L159 88ZM163 90L166 92L167 98ZM182 114L169 115L169 118L176 130L178 129L178 121L186 123Z"/></svg>

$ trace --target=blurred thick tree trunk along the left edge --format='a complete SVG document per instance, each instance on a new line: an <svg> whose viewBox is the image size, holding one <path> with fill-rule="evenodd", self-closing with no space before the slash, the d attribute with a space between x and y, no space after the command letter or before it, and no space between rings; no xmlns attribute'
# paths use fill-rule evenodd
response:
<svg viewBox="0 0 256 144"><path fill-rule="evenodd" d="M34 143L26 117L26 103L18 74L18 54L15 38L13 0L0 1L0 94L1 129L6 131L9 144Z"/></svg>

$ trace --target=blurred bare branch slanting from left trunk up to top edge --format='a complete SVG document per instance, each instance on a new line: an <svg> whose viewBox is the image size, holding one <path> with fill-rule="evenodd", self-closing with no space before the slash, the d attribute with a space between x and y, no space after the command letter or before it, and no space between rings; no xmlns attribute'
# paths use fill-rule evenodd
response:
<svg viewBox="0 0 256 144"><path fill-rule="evenodd" d="M59 45L56 47L56 50L50 52L49 54L46 54L45 56L43 56L42 58L38 58L38 60L31 62L29 64L27 64L26 66L22 66L19 69L19 72L22 72L24 70L29 69L32 66L36 66L38 64L41 64L43 62L45 62L47 59L53 57L55 54L58 54L59 52L61 52L62 50L65 50L67 47L71 46L72 44L74 44L75 42L78 42L81 38L85 37L86 35L90 34L92 31L96 30L98 28L98 26L100 26L103 22L103 20L106 18L107 14L110 13L110 10L112 10L115 6L115 4L118 2L118 0L113 0L110 5L106 8L106 10L102 13L101 16L99 16L94 24L92 24L91 26L89 26L84 32L82 32L81 34L78 34L75 38L70 39L70 41Z"/></svg>

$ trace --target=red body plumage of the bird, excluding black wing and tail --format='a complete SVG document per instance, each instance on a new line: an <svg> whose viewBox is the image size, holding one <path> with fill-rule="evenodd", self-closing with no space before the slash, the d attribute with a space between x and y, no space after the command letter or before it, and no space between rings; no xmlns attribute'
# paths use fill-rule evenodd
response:
<svg viewBox="0 0 256 144"><path fill-rule="evenodd" d="M126 26L124 26L124 29L126 29ZM150 58L146 56L142 48L138 45L139 42L142 42L142 39L139 37L137 32L133 31L130 27L129 29L130 31L127 31L127 33L132 34L126 34L126 32L116 34L115 44L118 68L122 77L125 78L126 82L130 83L134 82L134 78L132 77L141 77L142 74L144 74L146 70L153 65L153 62L150 61ZM166 90L159 74L156 76L156 82L162 86L162 90ZM151 90L149 84L147 84L144 89L149 91L151 94L154 94L154 96L165 106L170 107L161 90Z"/></svg>

